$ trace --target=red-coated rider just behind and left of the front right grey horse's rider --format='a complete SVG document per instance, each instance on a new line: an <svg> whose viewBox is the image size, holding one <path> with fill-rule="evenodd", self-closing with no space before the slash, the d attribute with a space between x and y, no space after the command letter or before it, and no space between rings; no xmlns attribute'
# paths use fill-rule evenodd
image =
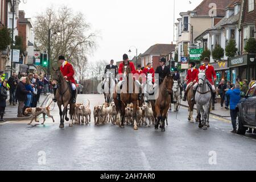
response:
<svg viewBox="0 0 256 182"><path fill-rule="evenodd" d="M184 98L183 101L187 100L187 93L188 93L188 89L193 85L196 84L196 82L198 81L198 69L195 68L196 67L196 63L191 62L189 64L189 69L188 69L188 75L185 78L185 81L187 81L187 87L185 89L185 93L184 93Z"/></svg>

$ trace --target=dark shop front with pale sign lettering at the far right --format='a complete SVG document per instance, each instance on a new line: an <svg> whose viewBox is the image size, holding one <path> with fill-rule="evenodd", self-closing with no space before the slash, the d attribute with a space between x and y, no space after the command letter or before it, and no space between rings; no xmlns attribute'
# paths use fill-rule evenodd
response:
<svg viewBox="0 0 256 182"><path fill-rule="evenodd" d="M255 78L256 54L247 54L229 59L229 68L231 73L231 82L236 84L237 78L247 79Z"/></svg>

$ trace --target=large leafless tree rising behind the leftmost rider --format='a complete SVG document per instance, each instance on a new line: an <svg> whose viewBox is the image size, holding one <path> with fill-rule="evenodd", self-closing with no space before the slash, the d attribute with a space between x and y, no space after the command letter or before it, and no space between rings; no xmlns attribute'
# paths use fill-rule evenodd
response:
<svg viewBox="0 0 256 182"><path fill-rule="evenodd" d="M65 55L69 61L72 58L76 60L75 57L81 58L81 49L82 59L87 60L85 55L91 53L96 46L96 33L90 30L90 24L85 21L84 15L73 13L67 6L61 6L57 11L54 7L49 7L45 13L36 16L35 24L35 42L40 50L48 49L49 29L59 32L59 35L52 36L50 41L50 55L53 61L56 61L59 55Z"/></svg>

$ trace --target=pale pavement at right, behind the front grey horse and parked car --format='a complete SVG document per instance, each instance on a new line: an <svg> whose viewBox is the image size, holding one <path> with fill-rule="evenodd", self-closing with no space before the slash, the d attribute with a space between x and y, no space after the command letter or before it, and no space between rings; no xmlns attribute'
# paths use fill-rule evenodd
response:
<svg viewBox="0 0 256 182"><path fill-rule="evenodd" d="M183 100L181 100L181 106L188 107L188 102L187 101L184 102ZM215 104L214 107L215 109L211 110L210 114L216 115L217 117L226 118L231 121L230 110L225 109L225 104L224 104L224 108L221 108L220 103ZM194 106L194 109L196 110L196 105Z"/></svg>

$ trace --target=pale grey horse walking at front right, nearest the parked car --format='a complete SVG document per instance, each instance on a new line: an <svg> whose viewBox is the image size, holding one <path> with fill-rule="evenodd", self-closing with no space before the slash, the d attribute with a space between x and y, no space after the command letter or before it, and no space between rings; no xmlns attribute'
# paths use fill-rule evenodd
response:
<svg viewBox="0 0 256 182"><path fill-rule="evenodd" d="M197 107L197 119L199 119L199 127L207 130L209 125L210 107L212 103L212 93L207 84L208 80L205 75L205 70L199 70L198 75L199 88L196 91L196 107ZM202 117L201 117L202 116Z"/></svg>

